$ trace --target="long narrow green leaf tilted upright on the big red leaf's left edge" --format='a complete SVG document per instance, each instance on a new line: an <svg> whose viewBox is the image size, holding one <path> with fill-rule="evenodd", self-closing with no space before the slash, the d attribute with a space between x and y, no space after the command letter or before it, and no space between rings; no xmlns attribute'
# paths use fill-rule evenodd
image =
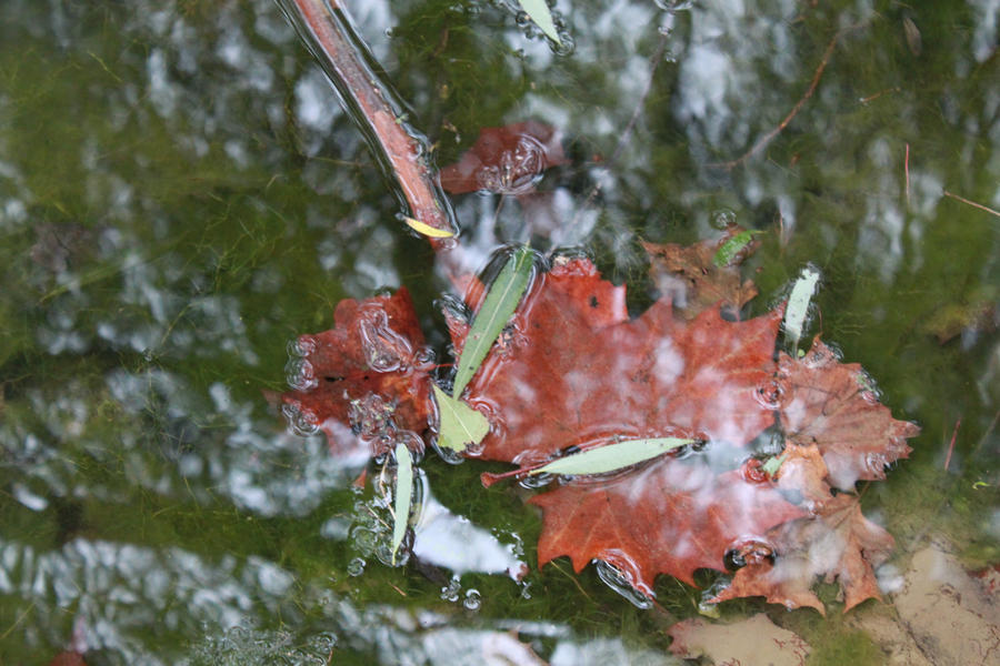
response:
<svg viewBox="0 0 1000 666"><path fill-rule="evenodd" d="M469 380L479 370L487 352L510 321L510 315L517 309L531 278L531 250L527 245L518 248L490 286L490 292L472 321L472 329L466 336L466 345L462 347L458 372L454 375L454 387L451 392L453 396L462 396Z"/></svg>

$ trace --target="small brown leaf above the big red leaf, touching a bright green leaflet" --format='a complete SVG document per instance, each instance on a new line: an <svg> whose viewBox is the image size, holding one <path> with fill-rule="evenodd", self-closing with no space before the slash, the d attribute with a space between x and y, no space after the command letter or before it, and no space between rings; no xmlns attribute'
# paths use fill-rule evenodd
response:
<svg viewBox="0 0 1000 666"><path fill-rule="evenodd" d="M702 311L721 303L732 314L757 295L752 280L743 281L739 264L759 244L751 241L723 266L716 265L714 258L727 241L743 230L730 224L719 239L700 241L693 245L677 243L648 243L642 246L650 258L649 274L660 292L660 297L673 303L684 319L691 320Z"/></svg>

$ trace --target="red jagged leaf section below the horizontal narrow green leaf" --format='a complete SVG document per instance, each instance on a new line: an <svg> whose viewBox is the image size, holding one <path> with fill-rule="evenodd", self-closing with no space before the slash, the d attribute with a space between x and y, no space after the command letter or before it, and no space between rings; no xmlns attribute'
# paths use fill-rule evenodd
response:
<svg viewBox="0 0 1000 666"><path fill-rule="evenodd" d="M577 481L529 501L543 511L539 566L569 555L576 571L594 557L652 596L657 574L693 585L699 568L723 569L730 549L763 539L803 515L770 483L738 472L661 457L611 481Z"/></svg>

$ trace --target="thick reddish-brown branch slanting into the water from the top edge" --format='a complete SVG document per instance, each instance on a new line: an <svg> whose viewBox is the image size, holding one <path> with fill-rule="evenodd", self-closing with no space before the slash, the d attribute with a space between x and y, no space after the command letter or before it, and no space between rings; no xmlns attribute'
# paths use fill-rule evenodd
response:
<svg viewBox="0 0 1000 666"><path fill-rule="evenodd" d="M424 159L423 137L403 122L391 89L368 64L371 58L346 10L337 0L284 0L282 7L333 82L348 113L359 121L383 171L399 183L410 215L434 229L456 232L448 200ZM453 244L430 241L436 250Z"/></svg>

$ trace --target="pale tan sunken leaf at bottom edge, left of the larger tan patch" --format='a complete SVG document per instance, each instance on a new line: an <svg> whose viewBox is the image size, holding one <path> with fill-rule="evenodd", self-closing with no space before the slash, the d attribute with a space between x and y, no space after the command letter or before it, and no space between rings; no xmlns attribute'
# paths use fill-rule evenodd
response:
<svg viewBox="0 0 1000 666"><path fill-rule="evenodd" d="M671 653L689 659L707 656L718 666L803 666L811 652L801 637L763 613L729 624L696 617L677 623L667 633L673 638Z"/></svg>

